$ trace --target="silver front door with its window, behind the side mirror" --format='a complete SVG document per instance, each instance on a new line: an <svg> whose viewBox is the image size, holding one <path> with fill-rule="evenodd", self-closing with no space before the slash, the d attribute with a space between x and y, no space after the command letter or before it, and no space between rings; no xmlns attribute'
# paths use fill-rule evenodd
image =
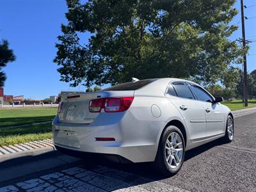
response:
<svg viewBox="0 0 256 192"><path fill-rule="evenodd" d="M214 99L203 88L196 84L190 84L195 96L204 106L206 116L206 136L217 136L223 134L224 129L224 113L220 104L212 102Z"/></svg>

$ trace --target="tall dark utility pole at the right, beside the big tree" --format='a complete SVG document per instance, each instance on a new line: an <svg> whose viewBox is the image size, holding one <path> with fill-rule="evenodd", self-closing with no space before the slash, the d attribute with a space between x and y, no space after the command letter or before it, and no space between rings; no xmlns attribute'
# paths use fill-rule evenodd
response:
<svg viewBox="0 0 256 192"><path fill-rule="evenodd" d="M245 50L245 29L244 29L244 3L241 0L241 20L242 20L242 33L243 33L243 49ZM246 64L246 53L243 56L244 60L244 106L248 106L248 83L247 83L247 64Z"/></svg>

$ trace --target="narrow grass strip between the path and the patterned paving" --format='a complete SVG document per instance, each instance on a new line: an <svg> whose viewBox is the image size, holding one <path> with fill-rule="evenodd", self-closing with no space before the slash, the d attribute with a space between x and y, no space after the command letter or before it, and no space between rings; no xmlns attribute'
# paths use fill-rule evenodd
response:
<svg viewBox="0 0 256 192"><path fill-rule="evenodd" d="M19 128L0 128L0 146L52 138L51 124Z"/></svg>

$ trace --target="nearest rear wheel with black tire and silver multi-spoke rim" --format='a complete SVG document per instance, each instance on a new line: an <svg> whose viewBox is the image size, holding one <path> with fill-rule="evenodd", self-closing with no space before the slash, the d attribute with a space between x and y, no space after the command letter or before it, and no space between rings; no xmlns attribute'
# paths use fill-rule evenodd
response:
<svg viewBox="0 0 256 192"><path fill-rule="evenodd" d="M178 127L167 127L159 141L155 166L163 175L179 172L185 157L185 141Z"/></svg>

